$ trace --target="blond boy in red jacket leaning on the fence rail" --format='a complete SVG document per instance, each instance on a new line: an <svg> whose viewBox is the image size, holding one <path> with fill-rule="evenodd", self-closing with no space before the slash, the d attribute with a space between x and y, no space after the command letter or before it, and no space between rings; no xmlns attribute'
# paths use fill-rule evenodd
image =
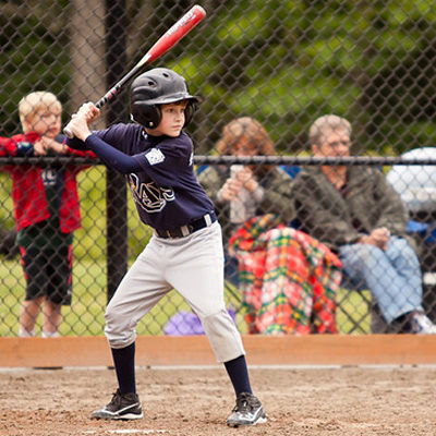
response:
<svg viewBox="0 0 436 436"><path fill-rule="evenodd" d="M19 105L23 133L0 137L0 156L44 156L90 152L63 144L62 106L48 92L35 92ZM43 312L43 337L58 336L61 306L71 304L73 231L81 226L76 174L84 166L5 166L12 175L17 244L26 279L20 311L20 336L35 336Z"/></svg>

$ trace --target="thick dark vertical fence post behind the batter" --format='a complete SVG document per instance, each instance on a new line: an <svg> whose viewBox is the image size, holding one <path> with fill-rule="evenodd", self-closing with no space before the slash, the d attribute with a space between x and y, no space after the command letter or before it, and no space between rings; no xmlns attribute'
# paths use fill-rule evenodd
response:
<svg viewBox="0 0 436 436"><path fill-rule="evenodd" d="M125 74L125 0L106 0L107 87ZM121 92L106 108L108 125L129 116L126 93ZM128 202L124 175L107 169L107 275L108 301L128 269Z"/></svg>

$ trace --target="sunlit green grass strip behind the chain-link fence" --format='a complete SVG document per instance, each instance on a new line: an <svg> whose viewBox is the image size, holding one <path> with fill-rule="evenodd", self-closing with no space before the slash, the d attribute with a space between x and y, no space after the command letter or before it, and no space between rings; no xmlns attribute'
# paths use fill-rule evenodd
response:
<svg viewBox="0 0 436 436"><path fill-rule="evenodd" d="M97 261L76 259L73 268L73 302L62 308L62 336L104 335L106 295L106 264ZM20 261L1 259L0 263L0 336L16 336L19 330L20 304L24 298L24 277ZM368 334L371 316L367 311L367 291L360 293L341 289L337 320L341 334ZM231 286L226 290L229 308L239 307L238 291ZM190 311L183 298L175 291L165 296L138 324L138 335L162 335L168 319L179 311ZM349 315L347 315L349 314ZM237 314L237 324L246 332L243 313ZM359 328L355 329L355 325ZM40 332L40 317L36 327Z"/></svg>

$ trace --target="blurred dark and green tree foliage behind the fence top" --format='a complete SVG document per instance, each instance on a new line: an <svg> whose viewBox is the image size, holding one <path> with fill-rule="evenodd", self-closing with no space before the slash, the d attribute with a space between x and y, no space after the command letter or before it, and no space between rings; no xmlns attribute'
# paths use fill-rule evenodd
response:
<svg viewBox="0 0 436 436"><path fill-rule="evenodd" d="M126 1L129 65L190 1ZM0 119L16 132L16 105L34 88L64 102L71 69L64 1L0 2ZM378 153L436 143L436 9L431 0L204 1L207 19L156 66L174 68L203 96L191 133L210 153L221 126L257 118L283 153L306 147L327 112L344 116L356 141ZM81 32L93 32L84 27ZM110 65L108 65L109 68ZM86 78L84 78L86 80Z"/></svg>

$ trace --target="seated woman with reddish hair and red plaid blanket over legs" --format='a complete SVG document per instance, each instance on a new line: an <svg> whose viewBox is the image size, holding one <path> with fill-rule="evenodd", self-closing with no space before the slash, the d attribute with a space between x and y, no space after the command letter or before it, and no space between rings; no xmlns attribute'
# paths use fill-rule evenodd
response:
<svg viewBox="0 0 436 436"><path fill-rule="evenodd" d="M227 124L216 148L220 155L276 155L266 130L249 117ZM238 259L249 332L337 332L340 262L327 246L289 227L291 177L271 165L209 166L198 180L215 203L227 259Z"/></svg>

